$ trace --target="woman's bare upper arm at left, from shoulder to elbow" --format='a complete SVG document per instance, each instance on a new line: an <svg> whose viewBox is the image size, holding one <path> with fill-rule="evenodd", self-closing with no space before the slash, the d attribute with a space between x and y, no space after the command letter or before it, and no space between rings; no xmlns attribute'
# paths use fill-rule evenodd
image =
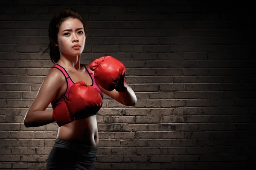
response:
<svg viewBox="0 0 256 170"><path fill-rule="evenodd" d="M32 113L33 111L45 111L47 106L55 98L56 94L58 94L58 91L64 82L65 77L61 71L56 68L51 68L49 74L41 84L37 96L30 105L27 114Z"/></svg>

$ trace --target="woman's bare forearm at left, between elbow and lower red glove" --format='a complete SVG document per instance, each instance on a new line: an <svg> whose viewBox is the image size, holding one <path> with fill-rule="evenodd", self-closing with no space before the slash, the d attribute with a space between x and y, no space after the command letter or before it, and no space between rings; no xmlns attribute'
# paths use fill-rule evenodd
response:
<svg viewBox="0 0 256 170"><path fill-rule="evenodd" d="M55 122L51 111L34 111L26 113L24 125L26 127L38 127Z"/></svg>

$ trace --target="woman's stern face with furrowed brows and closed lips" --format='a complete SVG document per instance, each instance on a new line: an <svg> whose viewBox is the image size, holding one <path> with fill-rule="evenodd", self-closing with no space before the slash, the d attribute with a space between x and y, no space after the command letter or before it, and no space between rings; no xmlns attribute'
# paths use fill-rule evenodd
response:
<svg viewBox="0 0 256 170"><path fill-rule="evenodd" d="M85 39L84 26L81 21L70 18L61 24L56 46L59 47L61 54L77 56L84 50ZM73 45L80 45L80 47L73 47Z"/></svg>

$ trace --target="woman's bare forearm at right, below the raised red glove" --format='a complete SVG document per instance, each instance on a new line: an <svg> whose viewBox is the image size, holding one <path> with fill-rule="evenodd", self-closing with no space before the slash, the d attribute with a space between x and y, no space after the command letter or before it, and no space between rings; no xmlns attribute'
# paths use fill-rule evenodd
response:
<svg viewBox="0 0 256 170"><path fill-rule="evenodd" d="M127 89L123 92L118 92L122 102L126 106L134 106L137 102L137 97L134 91L127 85Z"/></svg>

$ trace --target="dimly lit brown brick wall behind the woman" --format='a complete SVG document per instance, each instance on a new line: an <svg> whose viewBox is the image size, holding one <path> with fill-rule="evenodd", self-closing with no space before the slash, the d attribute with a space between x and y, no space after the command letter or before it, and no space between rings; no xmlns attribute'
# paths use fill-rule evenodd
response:
<svg viewBox="0 0 256 170"><path fill-rule="evenodd" d="M116 57L137 95L134 107L104 96L96 169L244 169L255 161L255 34L249 3L0 4L0 170L46 167L58 126L26 128L23 119L53 65L49 56L41 57L49 20L64 7L87 20L81 62Z"/></svg>

